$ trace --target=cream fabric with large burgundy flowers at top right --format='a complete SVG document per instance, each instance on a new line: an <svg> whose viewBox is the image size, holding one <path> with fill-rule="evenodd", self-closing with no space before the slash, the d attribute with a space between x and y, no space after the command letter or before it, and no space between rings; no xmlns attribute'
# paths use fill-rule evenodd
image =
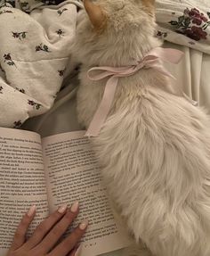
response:
<svg viewBox="0 0 210 256"><path fill-rule="evenodd" d="M157 36L210 54L210 1L158 0Z"/></svg>

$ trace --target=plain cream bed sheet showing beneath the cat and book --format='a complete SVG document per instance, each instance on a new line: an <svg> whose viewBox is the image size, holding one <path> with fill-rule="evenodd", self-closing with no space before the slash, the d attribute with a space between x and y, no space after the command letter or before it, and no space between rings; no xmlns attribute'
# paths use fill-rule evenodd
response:
<svg viewBox="0 0 210 256"><path fill-rule="evenodd" d="M175 47L184 52L185 56L177 66L166 67L177 78L174 86L181 86L185 93L199 99L210 112L210 55L183 45L165 43L166 47ZM67 78L65 88L61 90L51 111L28 120L22 128L34 130L42 136L82 129L77 122L77 77ZM103 256L122 256L122 252L110 252Z"/></svg>

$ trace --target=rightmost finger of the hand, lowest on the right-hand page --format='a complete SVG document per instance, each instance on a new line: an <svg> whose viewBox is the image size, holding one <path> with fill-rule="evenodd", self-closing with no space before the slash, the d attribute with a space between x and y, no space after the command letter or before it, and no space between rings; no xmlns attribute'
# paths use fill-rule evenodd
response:
<svg viewBox="0 0 210 256"><path fill-rule="evenodd" d="M61 244L57 245L52 252L50 252L49 256L65 256L67 255L76 244L79 242L81 237L85 234L85 230L87 228L88 222L87 220L83 221ZM71 254L70 254L71 255ZM77 255L77 252L76 252Z"/></svg>

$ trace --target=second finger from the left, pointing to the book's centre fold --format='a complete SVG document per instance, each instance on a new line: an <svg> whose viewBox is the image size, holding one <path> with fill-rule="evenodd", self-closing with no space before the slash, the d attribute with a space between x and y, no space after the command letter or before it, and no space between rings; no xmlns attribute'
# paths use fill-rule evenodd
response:
<svg viewBox="0 0 210 256"><path fill-rule="evenodd" d="M44 236L51 230L51 228L64 216L67 211L67 205L61 206L57 211L54 211L47 219L36 227L34 234L29 238L26 246L28 249L34 248L39 244Z"/></svg>

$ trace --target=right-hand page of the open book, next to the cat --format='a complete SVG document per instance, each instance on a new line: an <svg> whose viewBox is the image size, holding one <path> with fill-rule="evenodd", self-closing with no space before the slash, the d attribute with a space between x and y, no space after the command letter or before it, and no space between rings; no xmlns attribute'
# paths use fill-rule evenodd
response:
<svg viewBox="0 0 210 256"><path fill-rule="evenodd" d="M94 256L123 248L129 241L114 219L100 169L84 134L50 136L42 144L50 211L63 203L79 202L75 225L89 220L81 256Z"/></svg>

